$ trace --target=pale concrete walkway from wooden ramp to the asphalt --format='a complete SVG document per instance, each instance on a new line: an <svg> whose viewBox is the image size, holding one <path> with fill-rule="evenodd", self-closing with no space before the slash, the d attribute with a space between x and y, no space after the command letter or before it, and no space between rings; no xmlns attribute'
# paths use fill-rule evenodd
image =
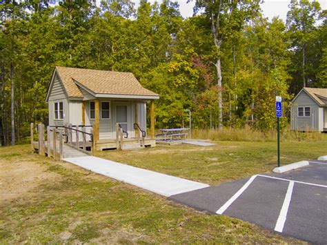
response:
<svg viewBox="0 0 327 245"><path fill-rule="evenodd" d="M119 164L99 157L70 157L63 160L166 197L208 187L208 184Z"/></svg>

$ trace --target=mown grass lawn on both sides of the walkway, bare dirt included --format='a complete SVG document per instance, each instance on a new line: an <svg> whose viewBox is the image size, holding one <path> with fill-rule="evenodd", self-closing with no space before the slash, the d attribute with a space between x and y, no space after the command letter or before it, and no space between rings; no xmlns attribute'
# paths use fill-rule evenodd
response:
<svg viewBox="0 0 327 245"><path fill-rule="evenodd" d="M99 155L215 184L270 170L275 164L270 147L273 144L219 142L213 148L159 147ZM290 162L321 155L317 148L326 149L326 143L286 148L290 153L284 153L283 161ZM0 148L0 173L1 244L301 243L33 155L30 146Z"/></svg>

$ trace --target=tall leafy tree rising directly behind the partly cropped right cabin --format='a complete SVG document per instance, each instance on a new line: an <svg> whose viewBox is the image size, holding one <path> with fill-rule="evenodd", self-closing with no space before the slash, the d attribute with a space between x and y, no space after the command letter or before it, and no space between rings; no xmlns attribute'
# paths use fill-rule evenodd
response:
<svg viewBox="0 0 327 245"><path fill-rule="evenodd" d="M321 19L321 8L317 1L292 0L287 14L286 26L293 50L291 72L293 75L292 92L317 83L317 68L321 59L321 41L317 37L316 23Z"/></svg>

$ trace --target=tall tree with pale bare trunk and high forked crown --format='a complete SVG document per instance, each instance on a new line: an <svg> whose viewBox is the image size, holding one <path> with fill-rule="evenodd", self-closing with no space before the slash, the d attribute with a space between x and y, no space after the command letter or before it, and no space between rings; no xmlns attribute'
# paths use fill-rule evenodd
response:
<svg viewBox="0 0 327 245"><path fill-rule="evenodd" d="M259 0L255 1L229 1L229 0L196 0L195 13L204 10L204 14L210 20L213 42L216 49L216 60L213 62L217 72L218 105L219 105L219 128L222 128L223 101L221 75L221 45L232 30L240 29L246 21L259 10Z"/></svg>

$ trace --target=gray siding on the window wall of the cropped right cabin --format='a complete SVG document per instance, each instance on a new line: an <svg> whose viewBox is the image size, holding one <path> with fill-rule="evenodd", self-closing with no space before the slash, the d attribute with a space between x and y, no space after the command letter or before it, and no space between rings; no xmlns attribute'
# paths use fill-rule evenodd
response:
<svg viewBox="0 0 327 245"><path fill-rule="evenodd" d="M298 117L297 108L299 107L310 107L310 117ZM302 90L292 104L290 118L291 128L293 130L322 131L321 120L321 110L318 104Z"/></svg>

